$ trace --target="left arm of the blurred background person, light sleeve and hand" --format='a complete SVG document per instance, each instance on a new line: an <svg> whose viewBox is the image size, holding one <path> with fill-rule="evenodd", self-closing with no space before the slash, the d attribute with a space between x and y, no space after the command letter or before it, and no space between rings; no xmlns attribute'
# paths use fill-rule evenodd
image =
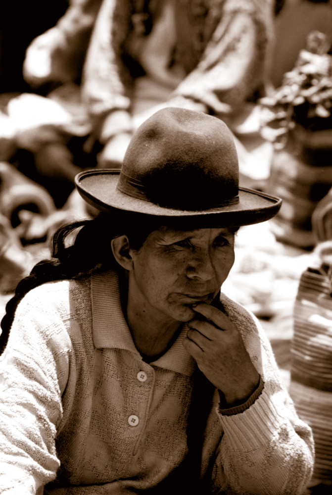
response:
<svg viewBox="0 0 332 495"><path fill-rule="evenodd" d="M111 135L132 130L132 78L122 59L130 23L130 2L103 0L84 64L82 98L91 116L96 138L103 144ZM106 118L107 136L103 136Z"/></svg>

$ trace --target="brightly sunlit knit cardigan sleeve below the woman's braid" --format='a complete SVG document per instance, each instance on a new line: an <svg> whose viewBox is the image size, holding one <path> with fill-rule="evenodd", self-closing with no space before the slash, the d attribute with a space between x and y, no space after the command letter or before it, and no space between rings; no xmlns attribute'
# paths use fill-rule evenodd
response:
<svg viewBox="0 0 332 495"><path fill-rule="evenodd" d="M0 359L0 492L39 494L59 467L56 428L69 370L69 338L42 289L17 307ZM51 308L51 309L50 309Z"/></svg>

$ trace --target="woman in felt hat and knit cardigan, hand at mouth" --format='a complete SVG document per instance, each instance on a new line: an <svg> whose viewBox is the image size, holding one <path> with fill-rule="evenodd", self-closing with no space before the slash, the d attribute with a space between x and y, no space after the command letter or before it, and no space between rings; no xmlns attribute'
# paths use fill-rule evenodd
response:
<svg viewBox="0 0 332 495"><path fill-rule="evenodd" d="M2 320L3 491L303 492L310 428L258 322L220 293L238 226L280 208L237 175L222 121L168 108L121 172L77 177L100 215L58 232Z"/></svg>

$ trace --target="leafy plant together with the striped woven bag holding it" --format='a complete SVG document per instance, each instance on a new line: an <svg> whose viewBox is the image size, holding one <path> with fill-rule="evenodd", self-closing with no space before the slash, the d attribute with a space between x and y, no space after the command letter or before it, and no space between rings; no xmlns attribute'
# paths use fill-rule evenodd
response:
<svg viewBox="0 0 332 495"><path fill-rule="evenodd" d="M268 189L283 198L278 240L312 247L311 215L332 187L332 55L314 31L280 88L260 100L261 134L274 144Z"/></svg>

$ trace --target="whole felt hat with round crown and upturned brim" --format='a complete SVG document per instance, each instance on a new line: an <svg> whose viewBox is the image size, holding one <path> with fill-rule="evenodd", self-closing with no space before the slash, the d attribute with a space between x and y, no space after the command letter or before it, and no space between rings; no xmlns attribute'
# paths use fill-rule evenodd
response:
<svg viewBox="0 0 332 495"><path fill-rule="evenodd" d="M239 187L233 135L222 120L175 107L143 122L121 170L84 171L75 185L100 211L159 225L250 225L275 216L282 202Z"/></svg>

